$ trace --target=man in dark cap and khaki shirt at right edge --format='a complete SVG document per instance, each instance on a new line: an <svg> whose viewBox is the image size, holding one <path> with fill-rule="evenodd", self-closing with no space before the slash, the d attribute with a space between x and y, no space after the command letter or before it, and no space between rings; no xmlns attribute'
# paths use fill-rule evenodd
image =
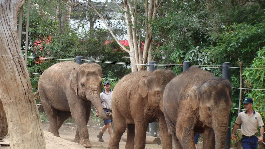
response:
<svg viewBox="0 0 265 149"><path fill-rule="evenodd" d="M253 100L251 98L244 99L242 103L245 104L246 111L239 113L235 121L231 139L235 137L235 131L241 124L243 149L257 149L258 141L263 141L264 123L260 114L252 109ZM259 138L255 136L258 132L257 127L259 127L260 130Z"/></svg>

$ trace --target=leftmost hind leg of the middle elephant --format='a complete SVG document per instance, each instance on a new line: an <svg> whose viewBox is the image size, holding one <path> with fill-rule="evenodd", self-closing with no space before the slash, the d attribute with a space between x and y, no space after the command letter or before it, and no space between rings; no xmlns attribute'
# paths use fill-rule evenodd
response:
<svg viewBox="0 0 265 149"><path fill-rule="evenodd" d="M116 112L117 110L112 107L112 116L113 116L113 130L112 135L109 139L109 148L110 149L118 149L119 143L121 140L121 136L126 130L125 118L121 113Z"/></svg>

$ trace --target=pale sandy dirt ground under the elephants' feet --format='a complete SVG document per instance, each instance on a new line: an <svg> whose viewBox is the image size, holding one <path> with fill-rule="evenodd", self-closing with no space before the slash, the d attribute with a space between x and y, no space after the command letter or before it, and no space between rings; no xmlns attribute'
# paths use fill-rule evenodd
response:
<svg viewBox="0 0 265 149"><path fill-rule="evenodd" d="M96 124L98 125L98 124ZM45 142L47 149L78 149L85 148L80 144L74 143L73 139L76 132L76 125L74 124L63 124L59 129L59 134L61 138L53 136L51 132L48 132L49 124L42 124ZM105 131L103 135L104 142L99 142L97 134L100 131L98 126L88 126L89 139L92 144L93 149L106 149L108 147L108 140L110 138L108 131ZM9 142L8 137L5 137L4 142ZM125 143L123 140L120 141L120 148L125 149ZM198 143L199 149L202 145ZM10 149L10 146L1 145L3 149ZM145 149L160 149L161 145L158 144L146 144Z"/></svg>

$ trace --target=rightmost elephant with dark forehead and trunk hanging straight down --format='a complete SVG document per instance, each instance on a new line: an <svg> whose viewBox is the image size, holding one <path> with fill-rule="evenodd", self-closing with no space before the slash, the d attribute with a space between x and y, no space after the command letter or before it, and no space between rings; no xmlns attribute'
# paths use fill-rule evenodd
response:
<svg viewBox="0 0 265 149"><path fill-rule="evenodd" d="M164 90L163 107L175 148L195 149L196 133L204 133L204 149L225 148L231 93L228 80L197 67L171 80Z"/></svg>

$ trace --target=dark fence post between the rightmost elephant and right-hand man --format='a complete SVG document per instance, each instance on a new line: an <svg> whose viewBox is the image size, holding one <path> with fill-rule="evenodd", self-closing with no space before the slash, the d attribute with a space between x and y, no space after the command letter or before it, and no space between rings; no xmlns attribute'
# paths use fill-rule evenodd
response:
<svg viewBox="0 0 265 149"><path fill-rule="evenodd" d="M231 66L231 63L229 62L225 62L223 63L223 79L227 79L229 82L231 82L231 68L229 68L229 66ZM232 99L232 97L230 97ZM229 118L228 118L228 129L227 129L227 135L226 135L226 141L225 141L225 148L230 148L231 146L231 112L229 114Z"/></svg>

